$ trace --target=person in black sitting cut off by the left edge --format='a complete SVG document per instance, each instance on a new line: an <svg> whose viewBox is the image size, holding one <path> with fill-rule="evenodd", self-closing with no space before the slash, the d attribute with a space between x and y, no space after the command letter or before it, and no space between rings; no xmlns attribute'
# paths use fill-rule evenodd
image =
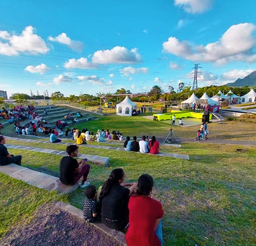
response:
<svg viewBox="0 0 256 246"><path fill-rule="evenodd" d="M6 146L6 137L0 136L0 166L5 166L11 163L21 166L22 156L10 155Z"/></svg>

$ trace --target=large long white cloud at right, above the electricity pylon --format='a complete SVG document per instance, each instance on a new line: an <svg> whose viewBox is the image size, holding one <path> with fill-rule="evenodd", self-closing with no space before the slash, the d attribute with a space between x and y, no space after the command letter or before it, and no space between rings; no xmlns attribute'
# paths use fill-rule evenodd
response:
<svg viewBox="0 0 256 246"><path fill-rule="evenodd" d="M256 54L252 54L255 39L252 32L256 26L252 23L240 23L230 26L222 37L207 45L193 46L188 41L179 41L176 37L169 37L163 43L163 51L184 57L187 60L215 62L223 65L229 61L256 61Z"/></svg>

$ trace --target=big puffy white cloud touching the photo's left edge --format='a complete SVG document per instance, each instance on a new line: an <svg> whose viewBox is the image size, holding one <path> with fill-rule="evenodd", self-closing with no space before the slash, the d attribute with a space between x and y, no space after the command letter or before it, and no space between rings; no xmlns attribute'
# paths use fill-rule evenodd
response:
<svg viewBox="0 0 256 246"><path fill-rule="evenodd" d="M34 34L34 27L27 26L20 35L11 35L7 31L1 31L0 37L7 42L0 41L0 54L18 55L19 52L30 52L33 54L45 54L49 51L45 41Z"/></svg>

